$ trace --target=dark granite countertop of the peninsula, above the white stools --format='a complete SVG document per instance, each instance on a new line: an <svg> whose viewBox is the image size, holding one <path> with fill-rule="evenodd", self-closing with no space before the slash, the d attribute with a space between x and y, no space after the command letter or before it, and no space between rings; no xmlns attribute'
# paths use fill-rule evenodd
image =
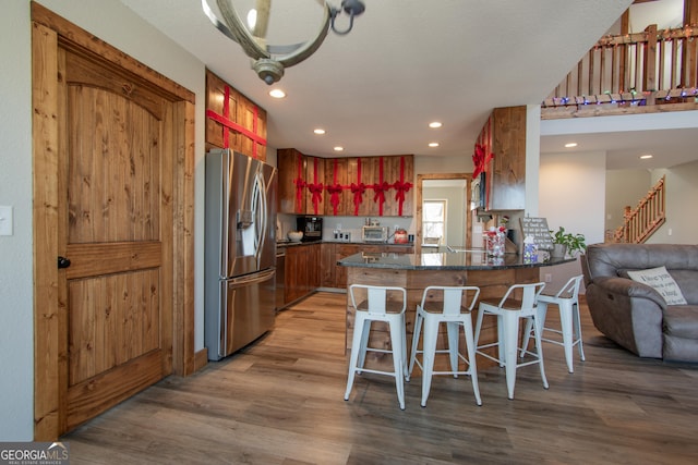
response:
<svg viewBox="0 0 698 465"><path fill-rule="evenodd" d="M338 260L344 267L384 268L393 270L504 270L509 268L538 268L575 261L576 258L551 258L547 261L527 262L517 254L488 257L484 249L421 254L360 253Z"/></svg>

